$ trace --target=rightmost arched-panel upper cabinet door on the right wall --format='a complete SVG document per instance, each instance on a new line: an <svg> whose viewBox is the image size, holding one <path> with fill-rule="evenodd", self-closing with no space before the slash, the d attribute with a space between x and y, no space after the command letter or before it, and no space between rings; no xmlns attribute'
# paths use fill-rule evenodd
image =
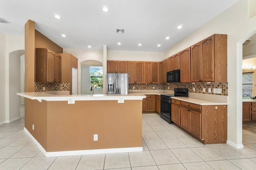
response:
<svg viewBox="0 0 256 170"><path fill-rule="evenodd" d="M202 81L214 81L214 36L201 41Z"/></svg>

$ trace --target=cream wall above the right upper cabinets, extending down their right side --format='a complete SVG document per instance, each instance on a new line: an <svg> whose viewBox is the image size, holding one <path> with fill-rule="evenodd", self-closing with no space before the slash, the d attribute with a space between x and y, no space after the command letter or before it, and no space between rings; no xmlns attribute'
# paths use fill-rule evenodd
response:
<svg viewBox="0 0 256 170"><path fill-rule="evenodd" d="M248 0L240 0L164 52L169 57L212 34L228 34L228 144L242 145L242 43L256 33L248 19ZM238 103L238 104L237 104Z"/></svg>

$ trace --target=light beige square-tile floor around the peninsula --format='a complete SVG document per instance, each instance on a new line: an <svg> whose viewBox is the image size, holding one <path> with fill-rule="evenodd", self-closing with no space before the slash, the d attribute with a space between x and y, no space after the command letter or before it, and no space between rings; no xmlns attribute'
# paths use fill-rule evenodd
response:
<svg viewBox="0 0 256 170"><path fill-rule="evenodd" d="M256 134L243 130L244 149L204 145L158 114L142 115L143 152L45 158L24 132L24 118L0 126L0 170L256 169Z"/></svg>

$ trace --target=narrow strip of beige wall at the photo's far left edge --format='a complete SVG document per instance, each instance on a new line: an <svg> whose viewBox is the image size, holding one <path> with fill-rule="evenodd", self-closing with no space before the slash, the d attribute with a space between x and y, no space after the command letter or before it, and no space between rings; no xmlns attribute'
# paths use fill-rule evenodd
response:
<svg viewBox="0 0 256 170"><path fill-rule="evenodd" d="M6 97L6 81L5 81L5 74L6 74L6 65L5 65L5 60L6 60L6 35L3 33L0 33L0 125L5 123L5 97Z"/></svg>

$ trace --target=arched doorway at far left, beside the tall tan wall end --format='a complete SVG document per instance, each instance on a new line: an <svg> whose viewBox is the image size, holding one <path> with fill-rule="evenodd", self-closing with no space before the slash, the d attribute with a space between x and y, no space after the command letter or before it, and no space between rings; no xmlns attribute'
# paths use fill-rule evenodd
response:
<svg viewBox="0 0 256 170"><path fill-rule="evenodd" d="M7 123L16 121L21 118L20 104L24 105L24 101L22 101L20 96L16 95L16 93L20 93L22 91L21 88L24 88L24 53L24 49L12 51L9 53L9 93L6 94L7 98L9 99L8 109L6 109ZM21 77L23 81L21 80ZM23 84L21 84L21 82Z"/></svg>

